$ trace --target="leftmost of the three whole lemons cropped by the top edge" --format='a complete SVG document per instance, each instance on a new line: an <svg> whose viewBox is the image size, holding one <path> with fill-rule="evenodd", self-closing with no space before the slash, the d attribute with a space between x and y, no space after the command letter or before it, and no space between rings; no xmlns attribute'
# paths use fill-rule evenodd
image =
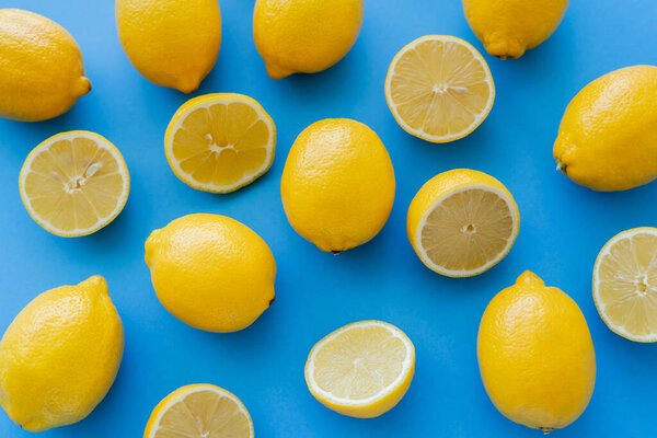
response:
<svg viewBox="0 0 657 438"><path fill-rule="evenodd" d="M221 46L217 0L116 0L116 27L132 66L183 93L198 89Z"/></svg>

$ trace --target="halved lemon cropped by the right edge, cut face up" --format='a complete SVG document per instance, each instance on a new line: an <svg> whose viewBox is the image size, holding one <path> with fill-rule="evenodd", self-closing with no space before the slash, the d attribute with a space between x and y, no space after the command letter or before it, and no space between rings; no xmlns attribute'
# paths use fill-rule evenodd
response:
<svg viewBox="0 0 657 438"><path fill-rule="evenodd" d="M631 341L657 341L657 228L634 228L604 244L593 267L604 323Z"/></svg>

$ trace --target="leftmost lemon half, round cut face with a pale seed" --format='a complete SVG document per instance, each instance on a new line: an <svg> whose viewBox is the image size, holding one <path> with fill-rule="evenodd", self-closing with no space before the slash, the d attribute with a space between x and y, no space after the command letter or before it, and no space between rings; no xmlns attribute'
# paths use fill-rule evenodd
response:
<svg viewBox="0 0 657 438"><path fill-rule="evenodd" d="M25 160L21 198L32 219L53 234L91 234L123 210L130 191L128 168L114 145L94 132L53 136Z"/></svg>

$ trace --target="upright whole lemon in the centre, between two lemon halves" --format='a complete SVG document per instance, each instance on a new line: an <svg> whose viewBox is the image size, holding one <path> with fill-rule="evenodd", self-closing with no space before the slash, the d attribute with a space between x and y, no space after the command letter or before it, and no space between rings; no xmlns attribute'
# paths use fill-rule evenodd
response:
<svg viewBox="0 0 657 438"><path fill-rule="evenodd" d="M290 149L280 181L292 228L320 250L333 252L379 233L394 188L392 162L377 134L347 118L306 128Z"/></svg>

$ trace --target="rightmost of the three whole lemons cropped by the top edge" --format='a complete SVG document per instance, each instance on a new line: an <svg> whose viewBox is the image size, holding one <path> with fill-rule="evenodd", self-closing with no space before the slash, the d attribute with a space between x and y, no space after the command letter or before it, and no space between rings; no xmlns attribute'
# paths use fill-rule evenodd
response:
<svg viewBox="0 0 657 438"><path fill-rule="evenodd" d="M470 27L502 59L519 58L548 39L567 7L568 0L463 0Z"/></svg>

